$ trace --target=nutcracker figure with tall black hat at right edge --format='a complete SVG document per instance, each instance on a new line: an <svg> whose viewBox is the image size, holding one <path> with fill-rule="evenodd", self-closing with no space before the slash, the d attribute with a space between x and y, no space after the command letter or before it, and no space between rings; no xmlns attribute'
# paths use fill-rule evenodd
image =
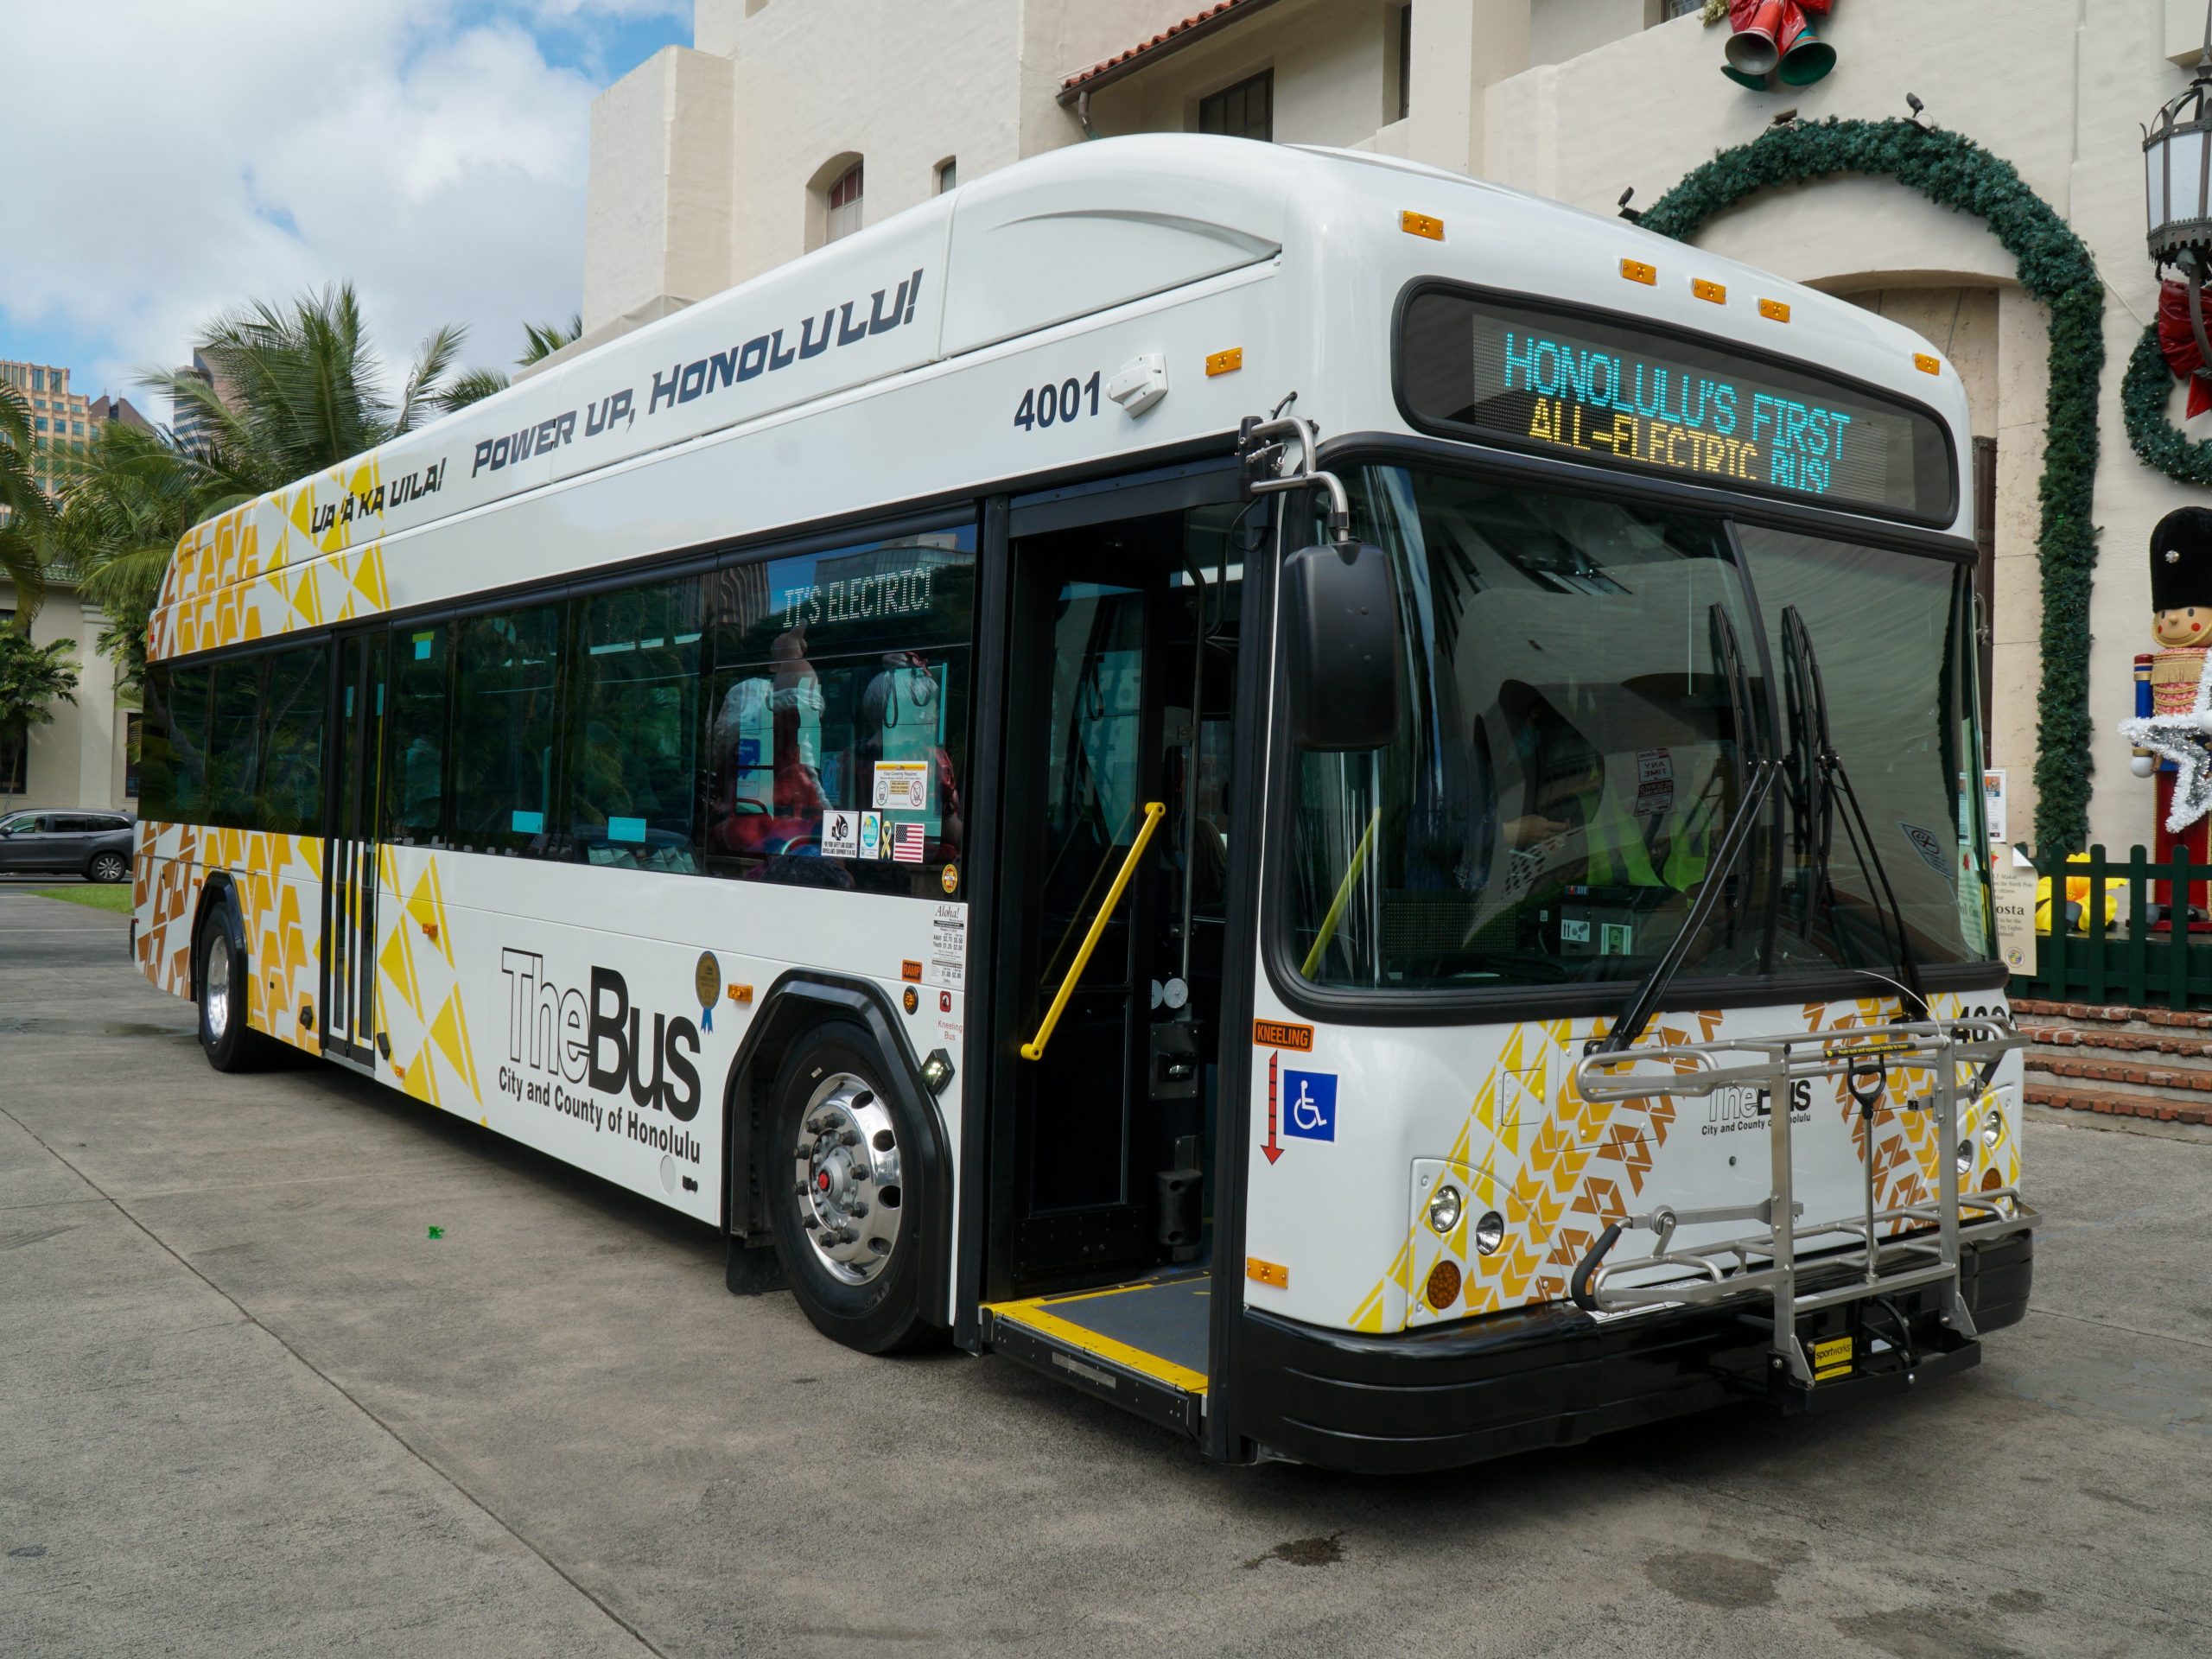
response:
<svg viewBox="0 0 2212 1659"><path fill-rule="evenodd" d="M2135 741L2132 772L2154 779L2157 858L2174 847L2205 863L2205 807L2212 805L2212 703L2205 657L2212 648L2212 509L2183 507L2150 535L2150 611L2154 653L2135 659L2135 719L2121 730ZM2205 883L2188 894L2154 883L2161 911L2185 905L2188 925L2208 929ZM2163 914L2157 922L2166 927Z"/></svg>

